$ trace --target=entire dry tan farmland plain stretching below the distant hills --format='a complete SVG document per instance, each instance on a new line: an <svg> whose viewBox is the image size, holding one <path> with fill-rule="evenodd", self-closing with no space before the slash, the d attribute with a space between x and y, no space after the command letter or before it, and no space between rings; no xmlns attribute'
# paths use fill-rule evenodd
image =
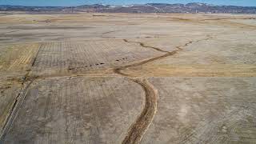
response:
<svg viewBox="0 0 256 144"><path fill-rule="evenodd" d="M256 15L1 14L0 143L256 143Z"/></svg>

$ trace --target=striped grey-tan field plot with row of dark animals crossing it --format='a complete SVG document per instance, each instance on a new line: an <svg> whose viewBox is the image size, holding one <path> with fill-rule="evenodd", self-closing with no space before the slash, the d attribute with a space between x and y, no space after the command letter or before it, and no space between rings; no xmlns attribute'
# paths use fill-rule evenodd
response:
<svg viewBox="0 0 256 144"><path fill-rule="evenodd" d="M162 54L122 40L42 43L34 74L81 72L122 66Z"/></svg>

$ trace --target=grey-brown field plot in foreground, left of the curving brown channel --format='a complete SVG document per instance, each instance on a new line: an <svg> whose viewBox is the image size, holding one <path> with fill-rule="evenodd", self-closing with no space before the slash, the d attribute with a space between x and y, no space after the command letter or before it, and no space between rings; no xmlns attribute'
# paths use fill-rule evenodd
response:
<svg viewBox="0 0 256 144"><path fill-rule="evenodd" d="M124 78L36 81L4 142L121 143L144 98L142 87Z"/></svg>

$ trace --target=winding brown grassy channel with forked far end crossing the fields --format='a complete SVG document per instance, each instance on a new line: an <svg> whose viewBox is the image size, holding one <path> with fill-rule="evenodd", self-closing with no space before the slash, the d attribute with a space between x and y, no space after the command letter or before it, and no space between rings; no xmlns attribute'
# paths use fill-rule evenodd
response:
<svg viewBox="0 0 256 144"><path fill-rule="evenodd" d="M157 48L157 47L154 47L154 46L146 46L142 42L135 42L135 43L138 43L140 46L143 46L145 48L158 50L158 51L164 52L166 54L163 54L161 56L154 57L154 58L149 58L149 59L143 60L142 62L137 62L137 63L129 64L129 65L126 65L126 66L121 66L121 67L118 67L118 68L114 69L115 74L119 74L123 77L130 77L129 79L131 81L136 82L140 86L142 86L143 90L145 91L145 97L146 97L146 102L145 102L144 108L142 110L142 113L138 116L136 121L130 126L130 129L127 132L126 138L124 138L124 140L122 141L122 144L133 144L133 143L141 142L143 134L146 133L146 130L150 126L150 123L153 121L154 114L157 111L157 99L158 99L157 90L154 89L154 86L152 86L150 84L150 82L147 81L146 78L144 78L142 80L131 78L131 77L134 77L134 76L130 75L130 74L125 74L125 73L122 72L122 70L126 70L127 68L134 67L134 66L142 66L142 65L144 65L148 62L154 62L154 61L159 60L161 58L169 57L171 55L177 54L178 51L183 50L182 47L189 46L190 44L192 44L194 42L206 41L206 40L209 40L210 38L212 38L212 37L210 35L207 35L207 38L200 39L198 41L187 42L186 44L184 44L182 46L176 46L175 48L177 50L173 50L173 51L161 50L160 48ZM124 41L125 42L130 42L126 39L124 39Z"/></svg>

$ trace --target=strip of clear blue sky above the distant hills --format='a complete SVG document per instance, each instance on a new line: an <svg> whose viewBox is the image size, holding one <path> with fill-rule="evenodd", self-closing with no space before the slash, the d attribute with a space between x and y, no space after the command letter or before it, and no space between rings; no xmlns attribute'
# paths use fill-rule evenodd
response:
<svg viewBox="0 0 256 144"><path fill-rule="evenodd" d="M256 6L256 0L0 0L0 5L15 6L81 6L86 4L128 5L143 3L204 2L215 5Z"/></svg>

